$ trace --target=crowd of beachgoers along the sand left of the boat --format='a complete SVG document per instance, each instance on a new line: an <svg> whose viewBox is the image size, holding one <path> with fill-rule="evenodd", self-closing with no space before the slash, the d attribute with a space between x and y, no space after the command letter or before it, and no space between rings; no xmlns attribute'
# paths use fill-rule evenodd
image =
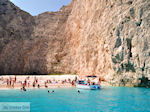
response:
<svg viewBox="0 0 150 112"><path fill-rule="evenodd" d="M21 76L20 76L21 77ZM26 90L26 88L49 88L51 86L62 87L62 86L75 86L75 82L77 81L77 77L74 79L55 79L50 78L47 80L42 80L36 76L27 76L22 80L18 79L17 76L9 76L9 77L0 77L0 81L3 82L1 85L6 85L6 88L16 88L20 87L21 90Z"/></svg>

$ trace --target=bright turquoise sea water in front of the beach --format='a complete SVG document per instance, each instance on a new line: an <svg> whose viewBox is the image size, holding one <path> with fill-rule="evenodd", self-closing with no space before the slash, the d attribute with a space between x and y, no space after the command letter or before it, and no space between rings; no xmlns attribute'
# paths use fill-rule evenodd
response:
<svg viewBox="0 0 150 112"><path fill-rule="evenodd" d="M148 88L104 87L80 94L75 88L53 90L0 90L0 102L31 102L31 112L150 112Z"/></svg>

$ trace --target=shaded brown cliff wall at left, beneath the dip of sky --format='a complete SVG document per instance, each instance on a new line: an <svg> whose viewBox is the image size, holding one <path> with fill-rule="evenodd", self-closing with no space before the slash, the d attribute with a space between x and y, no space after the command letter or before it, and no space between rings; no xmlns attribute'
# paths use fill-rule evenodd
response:
<svg viewBox="0 0 150 112"><path fill-rule="evenodd" d="M71 5L63 7L59 12L46 12L37 17L32 17L20 10L7 0L6 11L2 14L4 20L2 29L6 34L1 38L4 43L0 53L1 74L48 74L67 73L61 59L66 55L63 46L66 43L64 36L65 22L71 11ZM3 8L3 7L2 7ZM11 12L13 8L16 10ZM16 16L17 13L17 17ZM23 18L23 17L24 18ZM11 18L7 21L7 18ZM13 20L14 19L14 20ZM4 24L6 21L6 24ZM14 25L13 30L8 27ZM8 29L8 30L7 30ZM14 35L9 35L9 30Z"/></svg>

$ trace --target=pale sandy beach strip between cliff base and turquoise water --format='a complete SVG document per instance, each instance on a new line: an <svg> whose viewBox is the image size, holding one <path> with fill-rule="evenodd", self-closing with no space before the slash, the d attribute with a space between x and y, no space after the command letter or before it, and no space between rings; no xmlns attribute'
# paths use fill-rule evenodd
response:
<svg viewBox="0 0 150 112"><path fill-rule="evenodd" d="M53 89L75 87L76 78L84 79L77 75L3 75L0 76L0 90L21 89ZM95 78L94 80L98 80ZM101 82L101 86L110 86Z"/></svg>

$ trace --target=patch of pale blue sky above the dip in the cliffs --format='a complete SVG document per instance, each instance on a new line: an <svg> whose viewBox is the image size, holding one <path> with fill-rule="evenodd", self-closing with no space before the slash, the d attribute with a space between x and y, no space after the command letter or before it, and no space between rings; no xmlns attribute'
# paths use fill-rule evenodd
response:
<svg viewBox="0 0 150 112"><path fill-rule="evenodd" d="M61 7L68 5L71 0L10 0L20 9L33 16L44 12L56 12Z"/></svg>

